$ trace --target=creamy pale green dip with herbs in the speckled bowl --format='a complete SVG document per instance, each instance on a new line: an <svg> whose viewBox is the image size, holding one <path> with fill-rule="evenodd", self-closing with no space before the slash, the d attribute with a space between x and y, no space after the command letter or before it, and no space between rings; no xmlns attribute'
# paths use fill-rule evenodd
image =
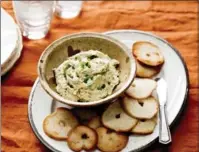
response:
<svg viewBox="0 0 199 152"><path fill-rule="evenodd" d="M103 99L119 84L118 65L117 60L102 52L80 52L55 69L56 90L72 101Z"/></svg>

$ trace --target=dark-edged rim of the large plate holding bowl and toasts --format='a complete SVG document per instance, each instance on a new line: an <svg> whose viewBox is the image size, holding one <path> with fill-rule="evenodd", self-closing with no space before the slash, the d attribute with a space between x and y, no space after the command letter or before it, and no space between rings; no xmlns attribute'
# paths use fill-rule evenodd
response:
<svg viewBox="0 0 199 152"><path fill-rule="evenodd" d="M185 70L185 76L186 76L186 90L185 90L185 94L184 94L184 99L183 99L183 102L182 102L182 105L180 107L180 110L178 111L177 115L175 116L174 120L171 122L170 124L170 127L176 122L177 118L180 116L180 114L182 113L183 109L184 109L184 106L185 106L185 103L188 99L188 94L189 94L189 74L188 74L188 68L187 68L187 65L185 63L185 60L183 59L183 57L180 55L179 51L173 46L171 45L168 41L162 39L161 37L157 36L157 35L154 35L150 32L145 32L145 31L140 31L140 30L111 30L111 31L107 31L107 32L103 32L103 34L106 34L106 35L109 35L109 34L114 34L114 33L138 33L138 34L144 34L144 35L147 35L147 36L151 36L151 37L154 37L160 41L162 41L163 43L167 44L169 47L172 48L172 50L176 53L176 55L179 57L180 61L182 62L182 65L184 67L184 70ZM122 42L121 42L122 43ZM54 151L54 152L61 152L57 149L55 149L54 147L52 147L50 144L48 144L44 139L43 137L41 137L41 135L38 133L37 129L36 129L36 126L34 124L34 121L33 121L33 117L32 117L32 99L33 99L33 96L34 96L34 92L35 92L35 88L36 86L38 85L39 83L39 78L36 79L32 89L31 89L31 92L30 92L30 95L29 95L29 100L28 100L28 120L30 122L30 126L31 126L31 129L33 131L33 133L36 135L36 137L50 150ZM135 152L135 151L141 151L149 146L151 146L156 140L158 139L158 136L153 139L151 142L149 142L147 145L144 145L138 149L135 149L135 150L132 150L130 152Z"/></svg>

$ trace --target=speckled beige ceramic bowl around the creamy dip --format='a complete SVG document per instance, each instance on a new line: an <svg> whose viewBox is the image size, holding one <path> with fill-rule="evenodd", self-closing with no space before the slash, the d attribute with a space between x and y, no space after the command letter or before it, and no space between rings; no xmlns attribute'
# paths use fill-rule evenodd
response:
<svg viewBox="0 0 199 152"><path fill-rule="evenodd" d="M76 102L63 98L56 92L53 68L57 68L68 57L85 50L99 50L120 62L120 84L104 99L92 102ZM38 62L38 73L42 87L55 100L73 107L89 107L107 103L118 97L135 77L136 64L128 48L121 42L98 33L78 33L64 36L50 44Z"/></svg>

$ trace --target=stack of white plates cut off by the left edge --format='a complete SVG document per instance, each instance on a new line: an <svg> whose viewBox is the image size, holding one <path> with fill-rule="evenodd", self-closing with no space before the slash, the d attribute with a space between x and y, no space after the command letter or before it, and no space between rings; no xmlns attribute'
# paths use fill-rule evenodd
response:
<svg viewBox="0 0 199 152"><path fill-rule="evenodd" d="M1 76L10 70L19 59L22 36L13 18L1 8Z"/></svg>

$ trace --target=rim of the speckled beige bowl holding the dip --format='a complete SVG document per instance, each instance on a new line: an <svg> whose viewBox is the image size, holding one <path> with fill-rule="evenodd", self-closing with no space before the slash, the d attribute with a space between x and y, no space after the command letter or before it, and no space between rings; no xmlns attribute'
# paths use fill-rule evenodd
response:
<svg viewBox="0 0 199 152"><path fill-rule="evenodd" d="M67 41L69 39L79 38L79 37L94 37L94 38L101 38L101 39L110 41L110 42L116 44L117 46L119 46L122 49L122 51L128 56L129 62L130 62L130 69L131 69L130 74L128 76L127 82L118 91L116 91L115 93L113 93L103 99L97 100L97 101L76 102L76 101L71 101L71 100L63 98L61 95L59 95L57 92L55 92L54 90L52 90L50 88L50 86L48 85L48 83L46 81L45 74L42 73L42 71L43 71L42 69L44 69L45 64L46 64L45 59L54 50L54 49L50 49L50 48L53 48L54 46L58 46L59 44L61 44L62 43L61 40ZM50 43L44 49L44 51L42 52L42 54L39 58L38 65L37 65L37 72L39 75L39 80L40 80L41 86L53 99L57 100L58 102L61 102L63 104L70 105L73 107L97 106L100 104L110 102L111 100L114 100L115 98L120 96L126 89L128 89L128 87L131 85L133 79L135 78L136 63L135 63L135 58L133 57L133 55L130 52L131 51L129 51L129 49L127 48L127 46L125 44L123 44L119 40L116 40L115 38L112 38L105 34L101 34L101 33L97 33L97 32L80 32L80 33L65 35L65 36L53 41L52 43Z"/></svg>

